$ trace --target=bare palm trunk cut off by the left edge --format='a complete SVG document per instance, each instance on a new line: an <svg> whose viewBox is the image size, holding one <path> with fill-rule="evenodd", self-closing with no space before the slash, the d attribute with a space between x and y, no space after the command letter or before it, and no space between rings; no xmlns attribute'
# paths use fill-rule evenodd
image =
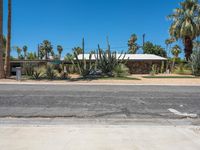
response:
<svg viewBox="0 0 200 150"><path fill-rule="evenodd" d="M3 0L0 0L0 79L5 78L3 67Z"/></svg>

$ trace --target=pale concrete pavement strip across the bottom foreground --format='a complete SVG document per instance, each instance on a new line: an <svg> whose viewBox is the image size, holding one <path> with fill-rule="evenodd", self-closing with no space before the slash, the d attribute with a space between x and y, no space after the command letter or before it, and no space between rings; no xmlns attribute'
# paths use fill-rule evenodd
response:
<svg viewBox="0 0 200 150"><path fill-rule="evenodd" d="M154 125L1 125L1 150L199 150L200 128Z"/></svg>

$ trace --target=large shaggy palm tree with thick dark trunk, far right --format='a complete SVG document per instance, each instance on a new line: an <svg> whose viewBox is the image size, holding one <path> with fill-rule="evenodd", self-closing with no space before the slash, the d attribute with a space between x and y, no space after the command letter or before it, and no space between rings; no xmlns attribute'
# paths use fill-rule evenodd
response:
<svg viewBox="0 0 200 150"><path fill-rule="evenodd" d="M172 20L170 35L184 44L186 60L190 59L193 40L200 35L200 5L198 0L185 0L168 18Z"/></svg>

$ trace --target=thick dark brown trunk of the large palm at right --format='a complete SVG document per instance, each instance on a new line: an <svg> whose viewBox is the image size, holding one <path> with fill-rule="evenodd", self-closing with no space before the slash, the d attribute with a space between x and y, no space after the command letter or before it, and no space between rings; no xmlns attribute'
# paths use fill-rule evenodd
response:
<svg viewBox="0 0 200 150"><path fill-rule="evenodd" d="M185 58L186 60L190 60L190 56L193 52L193 42L192 39L188 36L184 39L184 45L185 45Z"/></svg>

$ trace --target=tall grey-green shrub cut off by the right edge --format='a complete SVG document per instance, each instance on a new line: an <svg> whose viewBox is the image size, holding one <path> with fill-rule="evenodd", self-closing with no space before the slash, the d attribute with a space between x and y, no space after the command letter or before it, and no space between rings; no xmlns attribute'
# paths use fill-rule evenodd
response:
<svg viewBox="0 0 200 150"><path fill-rule="evenodd" d="M200 76L200 48L197 47L191 55L190 65L193 75Z"/></svg>

